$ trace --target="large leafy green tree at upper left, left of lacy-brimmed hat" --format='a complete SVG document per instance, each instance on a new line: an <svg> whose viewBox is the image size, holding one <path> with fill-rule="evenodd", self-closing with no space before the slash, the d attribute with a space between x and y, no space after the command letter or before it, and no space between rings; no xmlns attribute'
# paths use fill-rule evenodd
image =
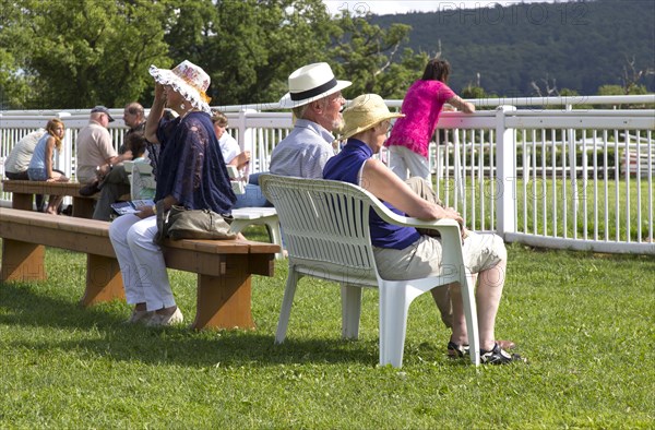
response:
<svg viewBox="0 0 655 430"><path fill-rule="evenodd" d="M150 85L150 63L167 61L162 26L167 1L19 0L15 4L23 13L7 22L1 37L14 38L13 52L25 52L14 63L14 71L33 82L31 92L21 95L23 107L122 106Z"/></svg>

